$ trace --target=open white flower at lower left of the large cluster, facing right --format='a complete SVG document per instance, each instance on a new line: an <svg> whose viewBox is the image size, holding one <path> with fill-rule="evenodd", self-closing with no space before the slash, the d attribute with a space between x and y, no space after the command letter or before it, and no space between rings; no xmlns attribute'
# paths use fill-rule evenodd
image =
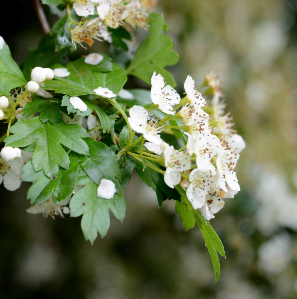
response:
<svg viewBox="0 0 297 299"><path fill-rule="evenodd" d="M180 173L191 168L191 157L186 151L178 152L172 145L165 143L163 145L166 166L164 181L167 186L174 188L182 179Z"/></svg>

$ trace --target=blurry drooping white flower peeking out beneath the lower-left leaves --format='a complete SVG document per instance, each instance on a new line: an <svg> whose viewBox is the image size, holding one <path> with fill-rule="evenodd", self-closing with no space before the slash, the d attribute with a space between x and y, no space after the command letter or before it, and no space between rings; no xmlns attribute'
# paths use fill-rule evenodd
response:
<svg viewBox="0 0 297 299"><path fill-rule="evenodd" d="M52 197L50 197L47 201L45 201L42 205L34 205L31 208L26 210L29 214L42 214L44 218L53 218L55 216L60 216L64 218L64 214L69 214L70 210L66 205L68 205L70 199L66 200L65 202L61 202L60 205L56 205L53 202ZM63 212L62 212L63 211Z"/></svg>

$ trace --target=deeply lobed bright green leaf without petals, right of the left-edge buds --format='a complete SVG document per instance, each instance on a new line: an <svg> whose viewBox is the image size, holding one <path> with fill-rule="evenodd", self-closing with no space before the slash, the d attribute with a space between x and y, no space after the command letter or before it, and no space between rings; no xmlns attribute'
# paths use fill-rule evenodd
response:
<svg viewBox="0 0 297 299"><path fill-rule="evenodd" d="M5 138L5 145L26 147L35 143L32 155L34 171L43 169L46 176L53 178L59 172L59 166L68 169L69 158L61 146L68 147L79 154L88 155L88 146L81 138L87 137L83 127L64 122L52 125L42 123L38 117L27 121L18 120L10 128L10 135Z"/></svg>

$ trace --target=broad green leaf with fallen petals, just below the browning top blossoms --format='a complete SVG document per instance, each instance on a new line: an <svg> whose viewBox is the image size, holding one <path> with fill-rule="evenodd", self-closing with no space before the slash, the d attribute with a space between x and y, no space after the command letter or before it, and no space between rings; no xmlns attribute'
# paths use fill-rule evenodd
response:
<svg viewBox="0 0 297 299"><path fill-rule="evenodd" d="M68 77L53 79L45 82L43 89L53 89L56 93L79 96L93 94L93 90L107 87L113 93L118 94L127 80L125 71L121 68L110 72L94 72L90 65L83 59L69 62L66 68L71 73Z"/></svg>

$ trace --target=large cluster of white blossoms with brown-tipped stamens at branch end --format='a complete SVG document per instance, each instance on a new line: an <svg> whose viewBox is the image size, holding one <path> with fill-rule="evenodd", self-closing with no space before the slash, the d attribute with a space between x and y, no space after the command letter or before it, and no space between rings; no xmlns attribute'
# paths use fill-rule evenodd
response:
<svg viewBox="0 0 297 299"><path fill-rule="evenodd" d="M240 190L234 168L245 143L231 129L229 115L223 115L224 104L217 92L213 94L212 105L205 107L206 101L191 76L185 80L187 96L182 101L171 86L164 86L160 74L156 76L154 73L151 83L151 100L162 112L175 115L174 105L179 105L178 109L182 106L176 119L183 120L181 130L187 138L187 150L178 151L165 143L160 136L164 124L158 125L142 106L135 105L130 109L130 126L149 141L144 144L149 151L163 155L165 183L170 188L177 184L186 188L192 206L199 209L205 220L210 220L223 208L223 198L234 197ZM211 108L212 116L205 112L206 108Z"/></svg>

